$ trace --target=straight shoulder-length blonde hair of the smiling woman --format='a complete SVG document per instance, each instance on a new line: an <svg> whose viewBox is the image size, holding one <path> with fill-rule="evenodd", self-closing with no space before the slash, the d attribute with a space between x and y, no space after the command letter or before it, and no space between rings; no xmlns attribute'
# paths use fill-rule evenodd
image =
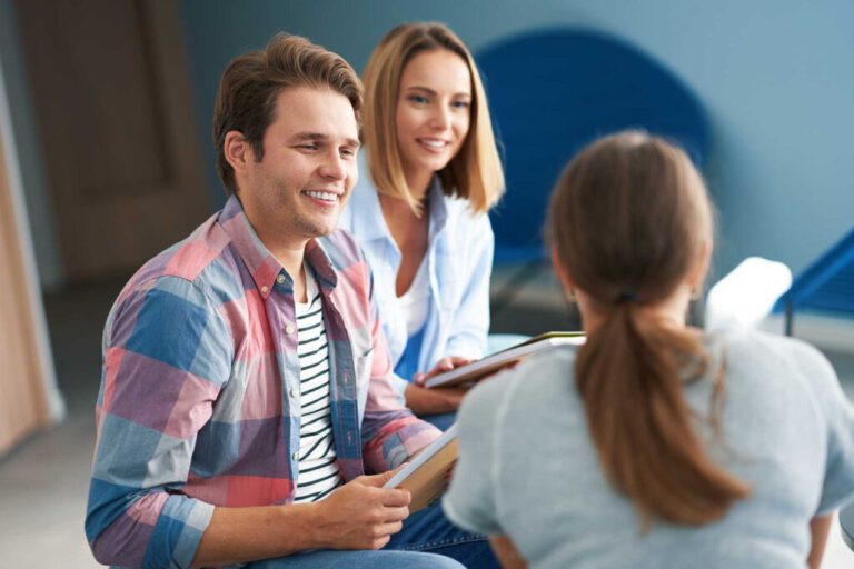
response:
<svg viewBox="0 0 854 569"><path fill-rule="evenodd" d="M450 162L439 171L446 196L465 198L471 209L489 210L504 192L504 171L489 120L486 93L474 58L465 44L441 23L404 23L389 31L370 56L363 81L363 139L368 173L377 191L406 200L413 211L420 204L413 197L404 176L397 144L395 116L400 77L418 53L446 49L463 58L471 76L471 121L466 140Z"/></svg>

